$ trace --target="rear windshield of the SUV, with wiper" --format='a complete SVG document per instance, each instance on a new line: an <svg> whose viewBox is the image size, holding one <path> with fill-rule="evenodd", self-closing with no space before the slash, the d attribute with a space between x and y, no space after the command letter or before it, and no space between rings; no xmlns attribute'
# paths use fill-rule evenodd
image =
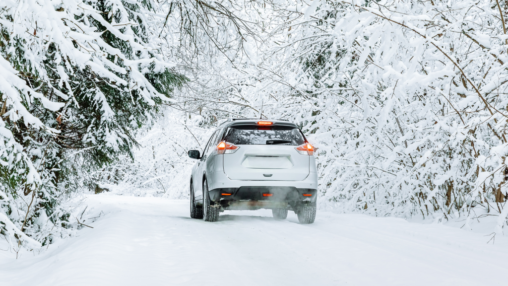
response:
<svg viewBox="0 0 508 286"><path fill-rule="evenodd" d="M295 145L305 143L302 133L292 126L237 125L228 128L225 140L235 145Z"/></svg>

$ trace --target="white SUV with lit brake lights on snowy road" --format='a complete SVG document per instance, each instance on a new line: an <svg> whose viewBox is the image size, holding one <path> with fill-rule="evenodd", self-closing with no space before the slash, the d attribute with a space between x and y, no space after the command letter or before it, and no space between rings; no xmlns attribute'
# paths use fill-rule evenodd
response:
<svg viewBox="0 0 508 286"><path fill-rule="evenodd" d="M217 221L224 210L288 210L300 223L314 222L317 171L314 148L294 123L241 119L220 125L190 177L190 217Z"/></svg>

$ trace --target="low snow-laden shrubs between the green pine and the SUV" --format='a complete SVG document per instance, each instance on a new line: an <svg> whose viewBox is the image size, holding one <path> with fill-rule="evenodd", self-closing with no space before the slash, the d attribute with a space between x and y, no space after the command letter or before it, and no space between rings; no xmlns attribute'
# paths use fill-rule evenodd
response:
<svg viewBox="0 0 508 286"><path fill-rule="evenodd" d="M116 194L188 198L196 160L190 159L187 151L202 151L213 129L200 116L184 116L184 112L167 112L153 128L138 135L139 148L133 158L123 156L85 176Z"/></svg>

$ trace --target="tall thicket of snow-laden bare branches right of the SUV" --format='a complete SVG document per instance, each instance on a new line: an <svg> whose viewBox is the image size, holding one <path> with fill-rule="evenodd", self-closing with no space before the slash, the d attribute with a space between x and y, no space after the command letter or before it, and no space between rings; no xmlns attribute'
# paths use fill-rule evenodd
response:
<svg viewBox="0 0 508 286"><path fill-rule="evenodd" d="M321 206L504 221L506 3L295 4L244 92L312 134Z"/></svg>

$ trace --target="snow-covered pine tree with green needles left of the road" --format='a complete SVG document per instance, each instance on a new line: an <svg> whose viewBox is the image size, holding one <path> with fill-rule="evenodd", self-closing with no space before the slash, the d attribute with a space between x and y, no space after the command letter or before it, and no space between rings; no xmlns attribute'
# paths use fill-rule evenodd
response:
<svg viewBox="0 0 508 286"><path fill-rule="evenodd" d="M0 4L0 227L12 242L30 241L22 231L48 243L79 168L131 154L133 132L185 82L160 52L154 4Z"/></svg>

